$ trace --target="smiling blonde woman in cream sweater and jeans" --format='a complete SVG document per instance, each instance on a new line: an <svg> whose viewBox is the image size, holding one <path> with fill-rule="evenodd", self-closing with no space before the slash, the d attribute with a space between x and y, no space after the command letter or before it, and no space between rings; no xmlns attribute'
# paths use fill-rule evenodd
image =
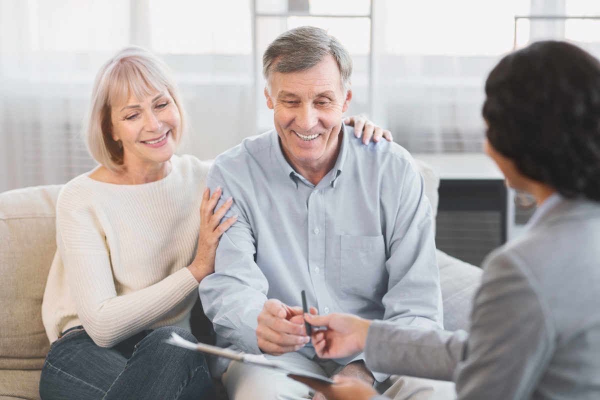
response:
<svg viewBox="0 0 600 400"><path fill-rule="evenodd" d="M236 221L220 222L232 199L213 211L221 191L205 187L209 165L174 154L181 104L166 66L139 47L98 71L84 134L100 165L68 182L56 206L44 400L214 398L202 354L163 342L171 332L195 340L198 284ZM352 122L365 142L391 140L370 121Z"/></svg>

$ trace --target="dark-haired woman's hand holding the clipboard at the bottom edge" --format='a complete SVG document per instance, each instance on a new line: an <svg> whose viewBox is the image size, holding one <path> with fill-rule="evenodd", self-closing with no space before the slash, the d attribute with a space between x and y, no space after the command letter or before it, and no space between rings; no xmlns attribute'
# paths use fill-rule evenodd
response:
<svg viewBox="0 0 600 400"><path fill-rule="evenodd" d="M378 394L377 391L373 389L372 384L365 383L356 378L335 375L335 383L328 385L310 378L298 377L296 375L289 376L290 378L301 381L302 383L307 384L308 386L317 390L313 400L323 399L323 396L325 396L328 400L368 400L373 396L377 396Z"/></svg>

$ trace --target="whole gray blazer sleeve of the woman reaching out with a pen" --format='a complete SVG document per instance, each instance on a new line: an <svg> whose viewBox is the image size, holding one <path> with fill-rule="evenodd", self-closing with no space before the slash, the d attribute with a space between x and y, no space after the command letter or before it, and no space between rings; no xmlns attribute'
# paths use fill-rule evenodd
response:
<svg viewBox="0 0 600 400"><path fill-rule="evenodd" d="M460 400L528 399L554 352L555 328L535 276L515 254L494 254L475 296L470 333L373 321L374 371L454 380Z"/></svg>

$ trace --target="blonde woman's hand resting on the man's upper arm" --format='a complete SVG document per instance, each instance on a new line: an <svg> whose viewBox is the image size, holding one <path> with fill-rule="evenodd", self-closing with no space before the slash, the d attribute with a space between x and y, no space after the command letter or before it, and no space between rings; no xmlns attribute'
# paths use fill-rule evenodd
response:
<svg viewBox="0 0 600 400"><path fill-rule="evenodd" d="M200 233L198 235L198 247L196 249L196 257L188 266L192 275L198 282L202 281L206 275L215 270L215 252L221 235L229 229L233 222L238 219L237 215L228 218L222 224L221 219L231 207L231 197L223 203L217 211L213 210L217 206L221 197L221 188L217 188L212 196L210 190L206 188L200 204Z"/></svg>

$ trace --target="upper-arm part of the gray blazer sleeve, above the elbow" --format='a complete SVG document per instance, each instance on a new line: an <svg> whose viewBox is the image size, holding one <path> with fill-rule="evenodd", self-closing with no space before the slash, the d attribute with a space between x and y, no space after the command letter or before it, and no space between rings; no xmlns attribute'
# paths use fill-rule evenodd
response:
<svg viewBox="0 0 600 400"><path fill-rule="evenodd" d="M514 252L496 253L475 296L458 398L529 399L554 353L556 329L538 281Z"/></svg>

